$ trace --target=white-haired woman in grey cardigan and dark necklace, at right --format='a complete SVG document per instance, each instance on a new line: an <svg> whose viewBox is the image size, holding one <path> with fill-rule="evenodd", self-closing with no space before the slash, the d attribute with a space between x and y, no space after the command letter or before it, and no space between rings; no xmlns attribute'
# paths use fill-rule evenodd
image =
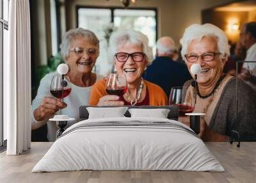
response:
<svg viewBox="0 0 256 183"><path fill-rule="evenodd" d="M196 95L194 113L205 113L199 136L205 141L225 141L236 130L241 139L255 140L256 95L243 81L223 73L230 54L225 33L212 24L193 24L186 28L180 44L188 70L194 63L201 67L198 84L185 83L189 86L186 102L195 103L188 96Z"/></svg>

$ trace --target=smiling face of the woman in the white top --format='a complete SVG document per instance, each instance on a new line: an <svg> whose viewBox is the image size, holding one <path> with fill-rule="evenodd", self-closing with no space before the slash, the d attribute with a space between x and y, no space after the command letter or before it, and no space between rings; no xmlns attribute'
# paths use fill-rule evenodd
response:
<svg viewBox="0 0 256 183"><path fill-rule="evenodd" d="M76 74L88 74L92 72L98 54L92 54L91 51L97 51L97 46L88 42L83 36L78 35L71 42L70 47L74 50L70 51L65 59L70 67L70 72Z"/></svg>

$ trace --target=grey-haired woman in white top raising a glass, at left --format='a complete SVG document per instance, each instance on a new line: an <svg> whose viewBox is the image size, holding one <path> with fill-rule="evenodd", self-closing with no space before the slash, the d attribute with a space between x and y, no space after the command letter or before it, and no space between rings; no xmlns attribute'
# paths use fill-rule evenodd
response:
<svg viewBox="0 0 256 183"><path fill-rule="evenodd" d="M37 95L31 106L32 130L44 126L59 109L62 115L79 118L79 106L88 104L92 85L96 80L102 79L92 72L99 56L99 40L92 31L83 28L67 31L61 43L61 55L69 67L67 76L70 79L72 92L65 98L65 103L52 97L51 80L58 73L52 72L45 75L40 81ZM56 130L55 123L47 123L49 141L56 139Z"/></svg>

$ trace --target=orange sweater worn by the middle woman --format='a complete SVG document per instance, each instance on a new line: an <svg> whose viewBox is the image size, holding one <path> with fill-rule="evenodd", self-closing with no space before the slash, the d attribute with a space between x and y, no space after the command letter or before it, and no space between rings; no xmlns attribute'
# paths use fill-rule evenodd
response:
<svg viewBox="0 0 256 183"><path fill-rule="evenodd" d="M150 106L166 106L167 104L167 97L164 93L164 90L160 88L157 84L150 83L149 81L145 81L148 88L149 93L149 105ZM105 79L101 79L100 81L97 81L92 86L92 91L90 95L90 106L97 106L99 99L105 95L108 95L108 93L105 90L106 81Z"/></svg>

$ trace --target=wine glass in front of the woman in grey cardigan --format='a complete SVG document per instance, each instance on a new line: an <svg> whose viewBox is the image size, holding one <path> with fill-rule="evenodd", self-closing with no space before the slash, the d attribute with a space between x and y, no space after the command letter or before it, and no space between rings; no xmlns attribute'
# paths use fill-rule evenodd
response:
<svg viewBox="0 0 256 183"><path fill-rule="evenodd" d="M179 106L179 116L192 113L195 107L193 93L189 93L187 86L176 86L171 89L169 105Z"/></svg>

